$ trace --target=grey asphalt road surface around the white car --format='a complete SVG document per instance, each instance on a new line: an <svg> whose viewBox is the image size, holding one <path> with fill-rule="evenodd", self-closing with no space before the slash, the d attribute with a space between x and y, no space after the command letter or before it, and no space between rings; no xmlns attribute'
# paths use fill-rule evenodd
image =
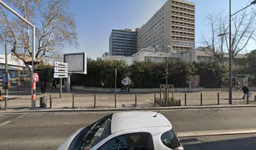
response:
<svg viewBox="0 0 256 150"><path fill-rule="evenodd" d="M176 132L256 128L255 112L256 108L160 111L171 121ZM77 129L107 114L110 112L0 114L0 149L56 149ZM208 146L232 149L229 146L235 141L256 147L255 134L211 137L196 138L199 143L186 141L191 138L181 142L186 149L208 149Z"/></svg>

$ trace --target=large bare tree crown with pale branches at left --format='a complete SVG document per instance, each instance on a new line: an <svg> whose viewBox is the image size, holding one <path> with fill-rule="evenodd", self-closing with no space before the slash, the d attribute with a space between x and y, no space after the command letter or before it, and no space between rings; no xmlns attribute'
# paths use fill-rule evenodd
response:
<svg viewBox="0 0 256 150"><path fill-rule="evenodd" d="M77 32L68 0L6 0L21 16L36 26L35 60L60 52L64 46L77 46ZM11 52L24 63L31 61L30 28L0 6L0 41L11 44ZM26 64L31 74L31 70Z"/></svg>

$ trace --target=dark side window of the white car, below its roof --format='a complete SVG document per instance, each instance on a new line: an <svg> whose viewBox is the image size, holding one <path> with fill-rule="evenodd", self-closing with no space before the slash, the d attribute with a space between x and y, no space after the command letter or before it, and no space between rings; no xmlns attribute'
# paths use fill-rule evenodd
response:
<svg viewBox="0 0 256 150"><path fill-rule="evenodd" d="M149 133L124 134L110 139L98 150L151 150L154 149Z"/></svg>

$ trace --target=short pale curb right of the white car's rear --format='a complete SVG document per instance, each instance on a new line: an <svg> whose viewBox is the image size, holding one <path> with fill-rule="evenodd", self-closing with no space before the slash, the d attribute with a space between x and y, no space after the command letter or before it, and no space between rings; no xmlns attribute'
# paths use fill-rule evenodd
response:
<svg viewBox="0 0 256 150"><path fill-rule="evenodd" d="M196 136L224 136L234 134L253 134L256 133L256 129L227 129L227 130L215 130L215 131L193 131L177 133L178 138L191 138Z"/></svg>

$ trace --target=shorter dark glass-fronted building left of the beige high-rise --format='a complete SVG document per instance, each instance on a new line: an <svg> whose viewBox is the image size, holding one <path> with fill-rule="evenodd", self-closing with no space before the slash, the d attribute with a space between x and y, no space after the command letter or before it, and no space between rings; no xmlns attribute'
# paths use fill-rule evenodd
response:
<svg viewBox="0 0 256 150"><path fill-rule="evenodd" d="M135 53L137 53L137 31L113 29L109 37L109 55L132 56Z"/></svg>

